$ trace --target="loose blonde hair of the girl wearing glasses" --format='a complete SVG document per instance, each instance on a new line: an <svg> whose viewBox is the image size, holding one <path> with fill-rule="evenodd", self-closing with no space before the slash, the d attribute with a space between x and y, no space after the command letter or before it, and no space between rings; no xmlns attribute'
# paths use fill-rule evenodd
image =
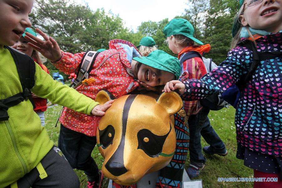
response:
<svg viewBox="0 0 282 188"><path fill-rule="evenodd" d="M240 32L241 32L241 29L243 28L243 25L241 23L241 20L240 20L240 16L243 14L243 8L244 8L244 4L241 6L241 8L239 9L238 13L235 15L235 17L233 18L234 22L233 23L237 23L237 21L239 21L240 23L240 26L239 26L239 29L236 33L236 35L233 37L232 41L231 41L231 45L230 45L230 48L233 49L235 47L237 47L237 44L241 41L241 37L240 37ZM248 34L249 36L252 38L253 40L253 43L255 44L256 46L256 41L255 39L253 38L253 35L251 34L250 30L249 30L249 26L245 26L247 31L248 31Z"/></svg>

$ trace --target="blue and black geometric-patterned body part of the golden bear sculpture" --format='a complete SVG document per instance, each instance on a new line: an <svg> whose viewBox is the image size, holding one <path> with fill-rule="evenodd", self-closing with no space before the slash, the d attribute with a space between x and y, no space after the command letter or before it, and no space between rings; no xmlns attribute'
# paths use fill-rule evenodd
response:
<svg viewBox="0 0 282 188"><path fill-rule="evenodd" d="M190 134L184 110L174 114L176 148L170 163L160 170L156 187L181 187L183 171L187 158Z"/></svg>

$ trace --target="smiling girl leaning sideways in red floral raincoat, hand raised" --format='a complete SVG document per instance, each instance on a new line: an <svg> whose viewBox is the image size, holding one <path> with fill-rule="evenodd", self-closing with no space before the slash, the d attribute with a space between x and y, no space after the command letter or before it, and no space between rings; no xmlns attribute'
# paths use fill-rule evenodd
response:
<svg viewBox="0 0 282 188"><path fill-rule="evenodd" d="M54 39L39 29L36 31L45 41L27 34L25 38L29 40L31 46L50 59L62 72L70 74L78 70L85 52L77 54L63 52ZM107 90L118 98L137 89L139 82L154 87L164 85L179 76L180 65L177 58L162 50L155 50L142 57L132 43L114 39L109 41L109 50L100 52L94 61L88 78L94 78L95 82L87 86L82 84L76 89L93 100L101 90ZM98 170L91 157L96 145L99 119L97 116L73 112L69 108L64 108L60 117L59 148L72 168L84 170L88 176L89 187L101 186L103 178L102 171Z"/></svg>

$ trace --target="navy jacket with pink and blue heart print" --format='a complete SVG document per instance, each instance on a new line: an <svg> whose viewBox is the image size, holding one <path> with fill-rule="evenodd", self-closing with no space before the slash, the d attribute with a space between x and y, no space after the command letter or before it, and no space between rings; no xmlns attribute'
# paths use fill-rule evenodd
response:
<svg viewBox="0 0 282 188"><path fill-rule="evenodd" d="M281 52L281 33L282 30L256 39L257 50ZM226 91L249 69L251 62L252 51L239 44L212 72L200 80L184 81L184 99L201 99ZM252 151L277 157L282 156L281 79L281 56L261 61L253 79L242 91L235 115L238 143Z"/></svg>

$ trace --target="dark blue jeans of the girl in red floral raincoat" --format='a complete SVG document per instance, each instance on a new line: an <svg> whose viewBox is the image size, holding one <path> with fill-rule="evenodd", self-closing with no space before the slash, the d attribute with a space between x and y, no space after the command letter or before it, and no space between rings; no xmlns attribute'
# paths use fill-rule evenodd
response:
<svg viewBox="0 0 282 188"><path fill-rule="evenodd" d="M58 147L73 169L83 170L89 177L98 175L98 167L91 157L96 145L96 136L87 136L61 124Z"/></svg>

